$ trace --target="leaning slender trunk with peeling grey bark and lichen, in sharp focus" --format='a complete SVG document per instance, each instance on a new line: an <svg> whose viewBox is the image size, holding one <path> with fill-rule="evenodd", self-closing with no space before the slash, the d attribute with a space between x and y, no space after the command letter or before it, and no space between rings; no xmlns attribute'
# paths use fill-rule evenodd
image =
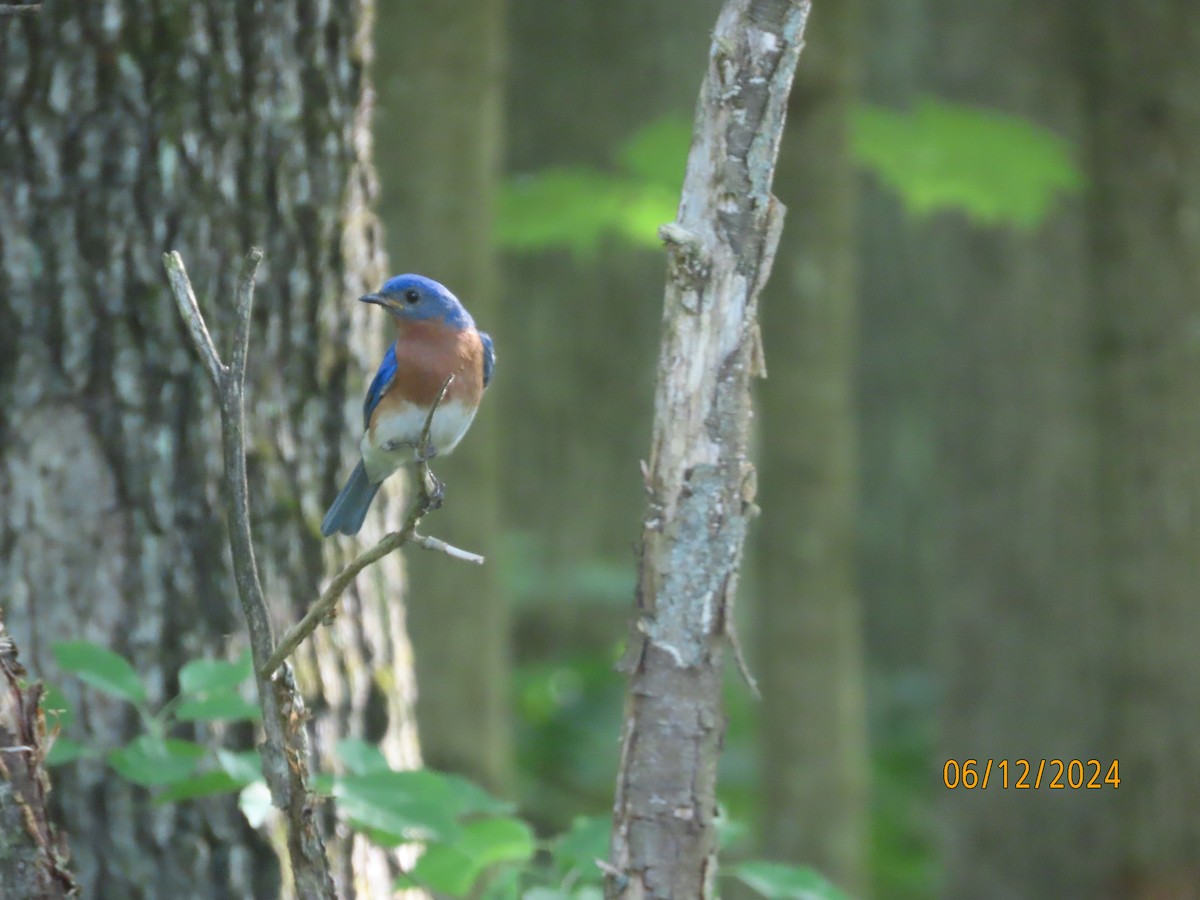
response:
<svg viewBox="0 0 1200 900"><path fill-rule="evenodd" d="M750 378L757 296L782 227L775 156L809 4L730 0L696 107L670 264L646 469L637 618L610 898L710 898L716 881L721 658L754 511Z"/></svg>

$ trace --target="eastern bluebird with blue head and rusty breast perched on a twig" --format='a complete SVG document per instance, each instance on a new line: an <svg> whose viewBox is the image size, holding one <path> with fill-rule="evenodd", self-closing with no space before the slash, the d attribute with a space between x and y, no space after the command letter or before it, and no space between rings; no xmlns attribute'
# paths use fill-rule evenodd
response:
<svg viewBox="0 0 1200 900"><path fill-rule="evenodd" d="M360 300L385 308L396 340L384 354L362 403L361 460L329 508L320 533L358 534L379 485L422 450L421 431L446 377L454 380L433 414L433 452L455 449L470 427L484 388L492 380L492 338L442 284L424 275L397 275Z"/></svg>

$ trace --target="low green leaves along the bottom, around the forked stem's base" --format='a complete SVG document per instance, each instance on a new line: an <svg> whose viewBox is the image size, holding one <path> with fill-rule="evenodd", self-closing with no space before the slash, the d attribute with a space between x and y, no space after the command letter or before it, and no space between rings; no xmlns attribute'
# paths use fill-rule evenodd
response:
<svg viewBox="0 0 1200 900"><path fill-rule="evenodd" d="M238 792L239 808L251 826L266 822L271 798L257 751L210 749L168 737L173 727L188 721L252 718L246 706L253 704L240 694L252 676L248 659L188 662L180 671L180 695L155 713L146 707L145 691L132 666L118 654L86 642L56 644L54 649L60 662L66 660L65 667L82 680L133 703L140 713L145 733L103 755L118 775L154 791L156 803ZM611 660L602 662L611 674ZM71 722L61 691L48 690L44 702L56 724ZM65 749L52 764L98 755L96 748L64 738L55 746ZM463 778L428 769L395 770L377 746L356 738L341 740L336 754L346 772L320 774L313 782L317 791L337 800L348 824L385 847L422 845L416 864L400 878L397 888L418 886L440 895L484 900L604 896L604 875L596 860L608 856L607 816L577 816L565 833L539 841L529 823L512 815L514 804ZM718 822L722 847L745 830L722 810ZM728 874L767 898L842 898L809 869L750 862Z"/></svg>

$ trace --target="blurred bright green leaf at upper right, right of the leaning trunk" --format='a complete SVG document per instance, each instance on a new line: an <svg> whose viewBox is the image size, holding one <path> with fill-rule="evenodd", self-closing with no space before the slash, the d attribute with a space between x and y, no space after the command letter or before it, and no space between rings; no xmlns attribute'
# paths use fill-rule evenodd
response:
<svg viewBox="0 0 1200 900"><path fill-rule="evenodd" d="M853 151L917 216L956 209L980 224L1032 229L1084 185L1070 145L1050 131L932 97L912 112L860 104Z"/></svg>

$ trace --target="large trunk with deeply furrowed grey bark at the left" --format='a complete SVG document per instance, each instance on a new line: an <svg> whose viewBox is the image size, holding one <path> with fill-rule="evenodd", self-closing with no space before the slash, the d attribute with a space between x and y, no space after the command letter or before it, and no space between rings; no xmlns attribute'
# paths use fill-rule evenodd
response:
<svg viewBox="0 0 1200 900"><path fill-rule="evenodd" d="M128 655L152 703L176 691L184 661L244 643L216 496L216 409L163 251L182 253L223 346L236 260L252 244L265 250L247 451L280 620L353 550L322 544L317 522L349 467L364 378L383 349L353 302L385 274L370 210L370 23L365 2L109 0L48 4L0 25L2 593L30 668L62 684L76 737L92 745L122 744L137 722L60 678L54 641ZM376 505L367 540L400 515L391 499ZM298 659L326 766L347 736L416 762L398 595L392 560ZM233 798L152 806L98 762L56 781L84 895L280 893L277 862ZM353 844L330 846L340 893L385 893L386 858Z"/></svg>

